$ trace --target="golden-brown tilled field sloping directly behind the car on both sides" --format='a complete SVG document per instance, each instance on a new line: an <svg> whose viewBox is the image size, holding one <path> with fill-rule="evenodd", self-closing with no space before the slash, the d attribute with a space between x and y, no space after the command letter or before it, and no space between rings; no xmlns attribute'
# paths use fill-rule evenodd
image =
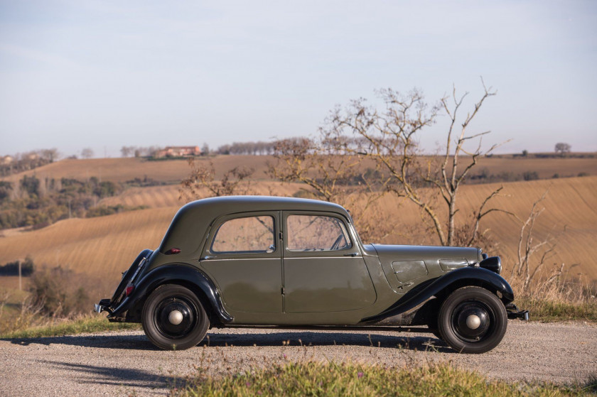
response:
<svg viewBox="0 0 597 397"><path fill-rule="evenodd" d="M463 186L461 213L471 213L483 197L497 186L499 185ZM259 189L263 193L274 191L279 195L291 195L298 190L298 185L280 186L264 181L259 183ZM566 263L571 274L582 273L591 281L597 280L596 176L507 183L504 196L497 197L494 204L526 218L532 202L547 189L549 195L544 201L546 210L537 223L537 237L542 238L549 232L559 232L564 225L567 227L566 233L559 238L557 254L549 259L549 264ZM104 274L117 281L119 272L126 270L141 249L158 246L173 214L180 207L178 186L130 189L109 200L127 205L150 205L154 208L107 217L67 219L33 232L9 233L0 237L0 263L31 255L38 264L60 265L85 273ZM402 232L419 222L418 212L409 203L387 196L380 204L382 210L389 214L387 222L394 222L396 225L396 234L382 242L436 243L424 234ZM499 244L496 252L490 254L500 254L508 268L515 258L519 224L504 214L492 214L486 218L484 226L490 229L488 234Z"/></svg>

